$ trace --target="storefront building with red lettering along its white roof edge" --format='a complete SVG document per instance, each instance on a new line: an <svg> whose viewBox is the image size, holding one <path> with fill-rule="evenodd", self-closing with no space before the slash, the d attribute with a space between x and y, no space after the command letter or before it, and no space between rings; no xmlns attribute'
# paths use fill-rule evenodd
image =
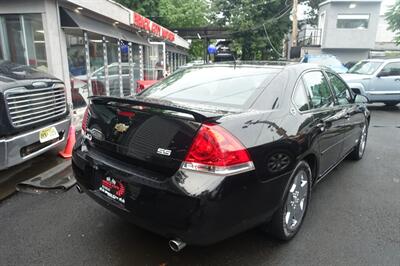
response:
<svg viewBox="0 0 400 266"><path fill-rule="evenodd" d="M189 43L110 0L0 0L0 60L65 82L78 110L91 95L129 96L187 61Z"/></svg>

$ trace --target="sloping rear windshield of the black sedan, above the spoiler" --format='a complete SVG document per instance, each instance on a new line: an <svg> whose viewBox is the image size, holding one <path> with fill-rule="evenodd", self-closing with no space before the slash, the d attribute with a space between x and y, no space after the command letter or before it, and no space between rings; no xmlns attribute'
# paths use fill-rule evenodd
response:
<svg viewBox="0 0 400 266"><path fill-rule="evenodd" d="M244 107L279 72L265 67L192 67L182 69L139 96Z"/></svg>

